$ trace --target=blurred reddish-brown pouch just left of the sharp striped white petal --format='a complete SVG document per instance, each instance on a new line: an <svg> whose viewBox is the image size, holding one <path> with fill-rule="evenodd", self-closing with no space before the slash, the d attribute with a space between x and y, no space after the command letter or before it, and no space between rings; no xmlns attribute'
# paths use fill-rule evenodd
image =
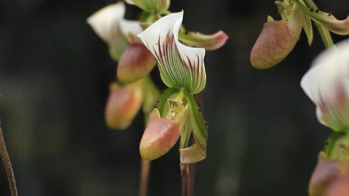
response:
<svg viewBox="0 0 349 196"><path fill-rule="evenodd" d="M153 54L142 43L131 41L119 60L117 78L123 83L134 82L151 72L155 65Z"/></svg>

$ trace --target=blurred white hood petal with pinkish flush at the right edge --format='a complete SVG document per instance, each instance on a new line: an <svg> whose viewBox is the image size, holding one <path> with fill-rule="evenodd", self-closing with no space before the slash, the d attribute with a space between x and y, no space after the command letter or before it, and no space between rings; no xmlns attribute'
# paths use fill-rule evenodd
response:
<svg viewBox="0 0 349 196"><path fill-rule="evenodd" d="M320 123L333 130L349 128L349 40L322 52L301 86L316 104Z"/></svg>

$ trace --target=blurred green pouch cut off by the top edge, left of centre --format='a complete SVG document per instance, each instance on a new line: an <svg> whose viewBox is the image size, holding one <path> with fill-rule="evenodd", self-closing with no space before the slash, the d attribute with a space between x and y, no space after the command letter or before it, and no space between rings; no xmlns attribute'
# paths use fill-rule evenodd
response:
<svg viewBox="0 0 349 196"><path fill-rule="evenodd" d="M126 3L135 5L146 12L162 14L167 11L170 0L126 0Z"/></svg>

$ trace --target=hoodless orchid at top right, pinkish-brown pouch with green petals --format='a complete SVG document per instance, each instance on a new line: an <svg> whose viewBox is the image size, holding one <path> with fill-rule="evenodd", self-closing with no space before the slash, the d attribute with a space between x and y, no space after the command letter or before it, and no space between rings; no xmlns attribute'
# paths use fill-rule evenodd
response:
<svg viewBox="0 0 349 196"><path fill-rule="evenodd" d="M307 35L308 44L311 45L313 41L311 20L318 26L320 34L326 34L329 37L323 38L325 40L331 39L328 30L339 35L349 34L348 18L338 20L331 14L307 8L304 5L306 1L276 2L282 19L275 21L271 16L268 16L267 22L264 23L263 30L251 51L250 61L253 67L267 69L284 60L299 40L302 28ZM332 39L327 40L327 42L332 43Z"/></svg>

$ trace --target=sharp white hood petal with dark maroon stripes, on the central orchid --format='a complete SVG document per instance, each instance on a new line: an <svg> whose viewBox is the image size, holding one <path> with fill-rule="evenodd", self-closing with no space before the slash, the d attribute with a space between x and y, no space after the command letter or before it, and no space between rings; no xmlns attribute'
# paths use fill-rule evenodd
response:
<svg viewBox="0 0 349 196"><path fill-rule="evenodd" d="M183 45L178 33L183 11L169 14L138 35L157 59L160 75L168 87L185 88L195 94L206 85L205 49Z"/></svg>

